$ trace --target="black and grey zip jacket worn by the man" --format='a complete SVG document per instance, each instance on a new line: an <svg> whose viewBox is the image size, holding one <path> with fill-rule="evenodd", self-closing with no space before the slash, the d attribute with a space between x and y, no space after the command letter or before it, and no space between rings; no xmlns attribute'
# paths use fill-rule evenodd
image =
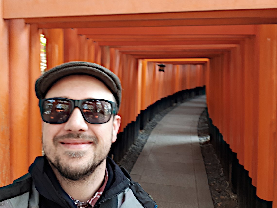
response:
<svg viewBox="0 0 277 208"><path fill-rule="evenodd" d="M124 168L107 157L109 178L94 208L157 208L142 187L134 182ZM29 173L13 184L0 188L0 208L76 208L73 200L60 186L45 157L37 157Z"/></svg>

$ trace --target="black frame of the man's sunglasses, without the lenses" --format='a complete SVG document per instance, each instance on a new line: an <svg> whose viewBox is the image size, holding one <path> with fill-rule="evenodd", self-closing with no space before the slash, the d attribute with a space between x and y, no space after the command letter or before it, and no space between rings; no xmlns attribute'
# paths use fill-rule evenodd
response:
<svg viewBox="0 0 277 208"><path fill-rule="evenodd" d="M49 121L46 121L44 118L43 118L43 112L42 112L42 109L43 109L43 103L46 101L46 100L51 100L51 99L55 99L55 100L61 100L61 101L69 101L71 103L71 110L70 110L70 113L68 115L68 117L66 118L65 121L63 122L49 122ZM45 99L40 99L39 100L39 108L40 108L40 115L41 115L41 118L42 120L45 122L45 123L50 123L50 124L61 124L61 123L66 123L68 121L68 119L70 118L73 110L78 107L81 111L81 114L84 118L84 120L88 123L91 123L91 124L102 124L102 123L107 123L109 120L107 120L106 122L102 122L102 123L92 123L92 122L89 122L87 119L86 119L86 116L84 115L84 112L82 111L82 105L84 102L86 101L104 101L104 102L107 102L107 103L110 103L111 106L112 106L112 113L110 115L110 118L109 120L111 119L112 117L112 114L116 115L116 103L115 102L112 102L112 101L109 101L109 100L104 100L104 99L96 99L96 98L91 98L91 99L85 99L85 100L72 100L72 99L69 99L69 98L60 98L60 97L55 97L55 98L45 98Z"/></svg>

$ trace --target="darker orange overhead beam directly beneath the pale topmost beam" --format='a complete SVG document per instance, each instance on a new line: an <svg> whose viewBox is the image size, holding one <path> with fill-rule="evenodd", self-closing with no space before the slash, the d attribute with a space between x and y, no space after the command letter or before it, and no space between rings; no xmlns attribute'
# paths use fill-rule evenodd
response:
<svg viewBox="0 0 277 208"><path fill-rule="evenodd" d="M163 13L144 13L116 14L116 15L93 15L90 16L55 16L55 17L22 17L26 23L58 23L58 22L100 22L100 21L147 21L147 20L198 20L198 19L227 19L227 18L275 18L276 9L241 9L224 11L195 11L195 12L163 12ZM202 24L205 25L205 24Z"/></svg>

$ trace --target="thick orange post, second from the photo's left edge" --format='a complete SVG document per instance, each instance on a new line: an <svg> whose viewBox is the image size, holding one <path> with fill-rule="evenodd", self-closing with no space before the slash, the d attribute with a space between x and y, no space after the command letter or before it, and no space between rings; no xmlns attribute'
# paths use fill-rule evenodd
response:
<svg viewBox="0 0 277 208"><path fill-rule="evenodd" d="M11 179L29 167L29 31L23 19L10 21L9 60L11 118Z"/></svg>

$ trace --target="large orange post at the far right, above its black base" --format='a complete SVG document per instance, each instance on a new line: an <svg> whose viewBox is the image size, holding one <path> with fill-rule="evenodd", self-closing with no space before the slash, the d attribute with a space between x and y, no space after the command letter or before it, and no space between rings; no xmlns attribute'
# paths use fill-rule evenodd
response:
<svg viewBox="0 0 277 208"><path fill-rule="evenodd" d="M257 26L259 42L259 127L257 196L273 200L277 95L277 25ZM266 70L265 70L266 69Z"/></svg>

